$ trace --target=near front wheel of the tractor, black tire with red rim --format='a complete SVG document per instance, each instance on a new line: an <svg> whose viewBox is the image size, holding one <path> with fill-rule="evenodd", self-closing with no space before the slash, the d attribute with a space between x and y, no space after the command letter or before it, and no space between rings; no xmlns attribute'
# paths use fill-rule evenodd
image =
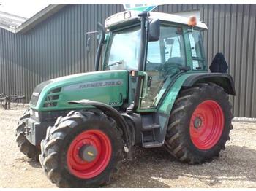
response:
<svg viewBox="0 0 256 191"><path fill-rule="evenodd" d="M75 154L77 149L80 153L84 146L95 145L97 139L102 147L95 147L99 155L94 160L86 162ZM112 118L97 112L69 112L48 128L39 160L48 179L58 187L99 187L108 184L117 171L123 148L121 133Z"/></svg>

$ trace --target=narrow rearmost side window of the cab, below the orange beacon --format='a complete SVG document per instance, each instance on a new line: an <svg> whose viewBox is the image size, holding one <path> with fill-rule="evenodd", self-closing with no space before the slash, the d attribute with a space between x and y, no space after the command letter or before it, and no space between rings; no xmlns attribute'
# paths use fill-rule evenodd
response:
<svg viewBox="0 0 256 191"><path fill-rule="evenodd" d="M206 68L206 61L203 55L203 43L200 31L193 30L189 33L189 42L192 54L192 69L203 70Z"/></svg>

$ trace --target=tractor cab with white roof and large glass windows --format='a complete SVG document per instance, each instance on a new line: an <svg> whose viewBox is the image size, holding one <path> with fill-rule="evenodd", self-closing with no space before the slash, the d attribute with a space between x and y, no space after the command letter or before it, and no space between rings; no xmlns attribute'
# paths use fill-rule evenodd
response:
<svg viewBox="0 0 256 191"><path fill-rule="evenodd" d="M141 71L140 112L155 111L165 87L179 74L208 71L201 37L207 26L192 19L138 11L120 12L106 19L102 69L127 70L130 74ZM129 82L130 87L137 87ZM129 104L132 101L134 95L129 97Z"/></svg>

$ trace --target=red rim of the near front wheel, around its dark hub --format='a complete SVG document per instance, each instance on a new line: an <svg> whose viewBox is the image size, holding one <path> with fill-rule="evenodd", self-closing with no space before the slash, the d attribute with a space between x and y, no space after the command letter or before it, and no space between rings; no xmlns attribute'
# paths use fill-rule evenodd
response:
<svg viewBox="0 0 256 191"><path fill-rule="evenodd" d="M93 147L97 152L94 160L90 162L83 160L80 155L81 149L87 146ZM105 170L111 153L111 142L105 133L101 130L86 130L71 142L67 151L67 166L73 175L81 179L91 179Z"/></svg>

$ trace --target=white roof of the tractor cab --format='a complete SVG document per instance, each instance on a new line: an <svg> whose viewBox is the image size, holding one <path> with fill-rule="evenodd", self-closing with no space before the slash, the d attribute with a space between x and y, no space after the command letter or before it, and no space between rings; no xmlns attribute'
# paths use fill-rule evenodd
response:
<svg viewBox="0 0 256 191"><path fill-rule="evenodd" d="M129 23L132 21L139 20L140 17L138 17L139 11L135 10L128 10L124 12L118 12L115 15L111 15L105 20L105 28L113 28L115 26L119 26L120 24L125 24ZM162 21L167 21L171 23L180 23L182 25L187 25L189 18L187 17L181 17L178 15L173 15L173 14L167 14L163 12L149 12L150 16L149 19L151 20L162 20ZM197 25L195 26L197 28L202 28L202 29L208 29L206 24L200 21L197 21Z"/></svg>

